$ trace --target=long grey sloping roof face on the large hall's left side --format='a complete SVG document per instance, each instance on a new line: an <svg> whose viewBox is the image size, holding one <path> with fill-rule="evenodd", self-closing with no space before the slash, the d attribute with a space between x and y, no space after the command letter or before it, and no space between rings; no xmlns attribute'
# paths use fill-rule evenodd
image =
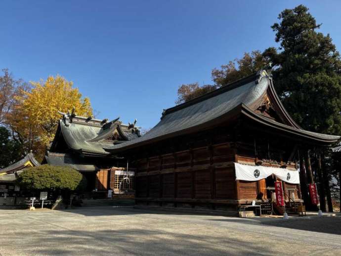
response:
<svg viewBox="0 0 341 256"><path fill-rule="evenodd" d="M135 146L155 138L193 129L233 112L232 110L243 102L254 108L261 103L267 86L266 74L255 74L230 86L219 88L189 102L167 109L164 111L161 121L140 138L120 145L107 146L105 149L110 151L131 145Z"/></svg>

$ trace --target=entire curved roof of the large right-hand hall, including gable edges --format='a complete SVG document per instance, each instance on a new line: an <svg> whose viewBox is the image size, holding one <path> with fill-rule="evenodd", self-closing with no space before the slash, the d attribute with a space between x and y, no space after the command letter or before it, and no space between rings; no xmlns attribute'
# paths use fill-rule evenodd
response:
<svg viewBox="0 0 341 256"><path fill-rule="evenodd" d="M280 116L282 124L255 112L266 94L271 98L273 107ZM329 142L334 142L339 138L339 136L313 133L300 129L285 111L273 88L272 79L265 71L260 71L231 85L221 87L191 101L167 109L164 111L161 121L145 135L123 144L105 146L104 149L109 152L118 152L177 135L192 133L221 124L233 116L248 112L244 111L245 113L243 113L243 109L251 110L253 115L259 116L259 120L262 120L266 125L278 124L281 129L296 131L298 135L309 134L312 139L322 139Z"/></svg>

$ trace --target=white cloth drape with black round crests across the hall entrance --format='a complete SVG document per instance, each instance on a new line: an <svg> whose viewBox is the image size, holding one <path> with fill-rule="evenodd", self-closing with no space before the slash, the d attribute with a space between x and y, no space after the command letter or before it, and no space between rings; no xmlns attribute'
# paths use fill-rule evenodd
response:
<svg viewBox="0 0 341 256"><path fill-rule="evenodd" d="M234 163L236 169L236 179L256 181L275 174L279 179L292 183L299 184L299 172L290 171L284 168L265 167L265 166L248 166Z"/></svg>

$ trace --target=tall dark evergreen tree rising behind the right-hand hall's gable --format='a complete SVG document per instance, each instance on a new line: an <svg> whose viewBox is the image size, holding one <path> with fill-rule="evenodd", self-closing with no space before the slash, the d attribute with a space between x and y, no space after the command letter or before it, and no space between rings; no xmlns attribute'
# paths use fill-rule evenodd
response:
<svg viewBox="0 0 341 256"><path fill-rule="evenodd" d="M329 35L316 30L308 8L285 9L271 27L279 51L263 55L272 63L276 91L291 116L303 128L322 133L341 133L341 61Z"/></svg>

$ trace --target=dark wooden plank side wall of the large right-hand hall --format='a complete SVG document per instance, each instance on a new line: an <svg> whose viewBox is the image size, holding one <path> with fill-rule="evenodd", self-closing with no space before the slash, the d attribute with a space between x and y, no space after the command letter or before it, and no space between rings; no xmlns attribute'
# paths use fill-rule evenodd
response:
<svg viewBox="0 0 341 256"><path fill-rule="evenodd" d="M236 199L234 150L216 144L139 159L136 204L215 208Z"/></svg>

